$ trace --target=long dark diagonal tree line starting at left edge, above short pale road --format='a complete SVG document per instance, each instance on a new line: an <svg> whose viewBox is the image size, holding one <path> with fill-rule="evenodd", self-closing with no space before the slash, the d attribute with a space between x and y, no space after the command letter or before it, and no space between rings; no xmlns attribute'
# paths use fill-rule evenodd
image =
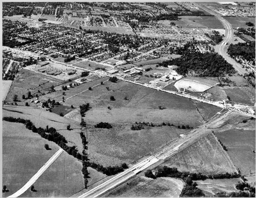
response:
<svg viewBox="0 0 256 198"><path fill-rule="evenodd" d="M9 122L18 122L18 123L23 123L25 124L26 128L29 130L32 130L34 133L39 134L41 137L44 139L47 139L49 141L52 141L56 144L58 144L63 150L65 150L69 155L74 156L77 159L82 159L82 155L78 152L75 146L67 146L66 143L67 140L65 139L64 136L59 134L55 128L53 127L48 127L46 128L36 128L35 125L30 121L30 120L25 120L22 118L13 118L13 117L3 117L4 121L9 121Z"/></svg>

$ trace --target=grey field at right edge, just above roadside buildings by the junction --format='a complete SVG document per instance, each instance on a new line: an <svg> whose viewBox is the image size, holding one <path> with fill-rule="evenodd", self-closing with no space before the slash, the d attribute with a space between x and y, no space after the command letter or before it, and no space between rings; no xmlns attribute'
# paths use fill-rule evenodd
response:
<svg viewBox="0 0 256 198"><path fill-rule="evenodd" d="M253 87L224 87L223 90L235 103L255 104L255 88Z"/></svg>

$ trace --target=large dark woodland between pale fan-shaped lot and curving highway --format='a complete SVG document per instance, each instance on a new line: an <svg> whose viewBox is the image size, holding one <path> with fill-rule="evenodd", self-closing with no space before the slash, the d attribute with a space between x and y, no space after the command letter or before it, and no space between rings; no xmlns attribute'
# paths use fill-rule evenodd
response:
<svg viewBox="0 0 256 198"><path fill-rule="evenodd" d="M184 52L180 58L159 63L160 66L177 65L177 73L185 76L188 71L195 71L200 77L219 77L235 73L234 68L221 55L217 53Z"/></svg>

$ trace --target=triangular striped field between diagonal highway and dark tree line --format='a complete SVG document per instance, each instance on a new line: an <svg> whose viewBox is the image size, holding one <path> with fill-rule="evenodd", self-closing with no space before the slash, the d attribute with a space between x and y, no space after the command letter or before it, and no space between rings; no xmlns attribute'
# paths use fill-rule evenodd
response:
<svg viewBox="0 0 256 198"><path fill-rule="evenodd" d="M162 166L204 174L232 173L236 169L212 134L208 134L165 161Z"/></svg>

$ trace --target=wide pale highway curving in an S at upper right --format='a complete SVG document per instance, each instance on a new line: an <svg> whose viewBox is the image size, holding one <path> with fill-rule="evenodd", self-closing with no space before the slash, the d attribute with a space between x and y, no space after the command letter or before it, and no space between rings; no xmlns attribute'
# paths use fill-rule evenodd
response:
<svg viewBox="0 0 256 198"><path fill-rule="evenodd" d="M206 7L205 5L201 5L201 4L196 4L199 8L201 8L204 11L207 11L208 13L214 15L218 20L220 20L220 22L222 23L222 25L225 28L226 31L226 36L223 40L223 42L220 45L217 45L217 51L218 54L222 55L222 57L231 65L233 65L233 67L240 73L240 74L244 74L247 73L245 68L242 67L241 64L237 63L233 58L231 58L228 54L228 45L226 45L227 43L230 44L230 42L233 40L234 37L234 31L232 28L232 25L226 20L224 19L222 16L220 16L218 13L216 13L215 11L213 11L212 9Z"/></svg>

